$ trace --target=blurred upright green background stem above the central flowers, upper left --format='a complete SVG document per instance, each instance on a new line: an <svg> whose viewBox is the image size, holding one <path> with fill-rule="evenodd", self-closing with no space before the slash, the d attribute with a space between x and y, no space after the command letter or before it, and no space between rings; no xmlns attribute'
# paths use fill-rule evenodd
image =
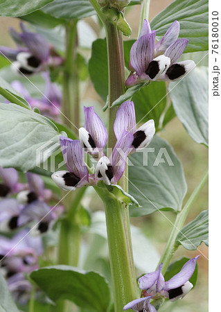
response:
<svg viewBox="0 0 221 312"><path fill-rule="evenodd" d="M78 33L77 20L66 25L66 55L64 62L63 114L64 123L78 134L80 123L80 99L78 77Z"/></svg>

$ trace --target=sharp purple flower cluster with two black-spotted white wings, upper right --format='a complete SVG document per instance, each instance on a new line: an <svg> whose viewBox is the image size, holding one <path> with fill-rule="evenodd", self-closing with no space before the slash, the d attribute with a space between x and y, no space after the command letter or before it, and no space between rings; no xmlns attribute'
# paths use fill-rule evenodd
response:
<svg viewBox="0 0 221 312"><path fill-rule="evenodd" d="M130 50L130 70L126 85L130 87L148 80L178 80L194 67L193 60L177 62L188 44L179 36L179 22L174 21L166 34L155 44L156 31L143 21L141 34Z"/></svg>

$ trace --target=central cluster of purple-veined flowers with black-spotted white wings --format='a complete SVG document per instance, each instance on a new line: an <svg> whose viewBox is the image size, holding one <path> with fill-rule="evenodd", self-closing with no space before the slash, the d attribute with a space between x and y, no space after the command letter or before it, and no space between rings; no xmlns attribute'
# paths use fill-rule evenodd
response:
<svg viewBox="0 0 221 312"><path fill-rule="evenodd" d="M107 158L103 152L107 143L107 130L94 107L85 107L85 127L79 129L79 141L60 137L64 162L68 171L53 173L55 184L64 191L75 190L85 185L96 185L99 180L105 184L116 184L125 171L127 156L136 148L148 146L154 135L154 121L148 121L136 130L134 103L127 101L118 110L114 123L116 144L112 155ZM89 173L84 162L84 151L96 160L96 170Z"/></svg>

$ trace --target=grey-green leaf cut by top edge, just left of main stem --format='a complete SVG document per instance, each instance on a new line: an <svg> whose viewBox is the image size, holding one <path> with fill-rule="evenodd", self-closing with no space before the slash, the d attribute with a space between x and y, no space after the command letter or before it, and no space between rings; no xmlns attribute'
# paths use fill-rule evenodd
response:
<svg viewBox="0 0 221 312"><path fill-rule="evenodd" d="M83 19L96 14L89 0L55 0L45 6L43 11L62 19Z"/></svg>

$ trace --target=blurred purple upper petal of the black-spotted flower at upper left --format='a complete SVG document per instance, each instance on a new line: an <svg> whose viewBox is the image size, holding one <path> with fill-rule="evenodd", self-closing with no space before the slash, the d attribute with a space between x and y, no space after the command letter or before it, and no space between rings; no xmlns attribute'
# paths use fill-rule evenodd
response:
<svg viewBox="0 0 221 312"><path fill-rule="evenodd" d="M36 58L45 62L49 57L49 48L46 40L39 33L30 33L26 31L20 35L22 42L28 47L30 53Z"/></svg>

